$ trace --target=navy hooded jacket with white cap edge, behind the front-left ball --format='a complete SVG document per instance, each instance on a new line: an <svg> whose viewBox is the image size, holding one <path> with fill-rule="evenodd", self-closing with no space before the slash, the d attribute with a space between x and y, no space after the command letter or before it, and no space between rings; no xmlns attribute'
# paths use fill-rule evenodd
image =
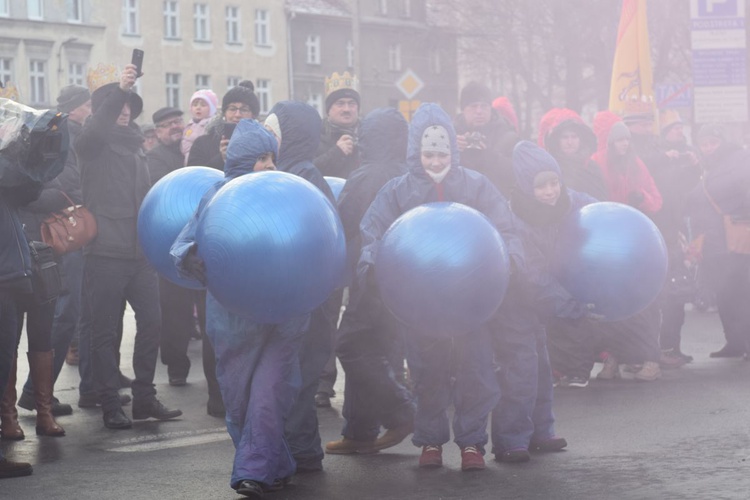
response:
<svg viewBox="0 0 750 500"><path fill-rule="evenodd" d="M323 174L313 164L320 143L320 115L315 108L299 101L281 101L271 108L269 115L276 115L281 128L281 147L276 169L302 177L323 191L336 206L333 191Z"/></svg>

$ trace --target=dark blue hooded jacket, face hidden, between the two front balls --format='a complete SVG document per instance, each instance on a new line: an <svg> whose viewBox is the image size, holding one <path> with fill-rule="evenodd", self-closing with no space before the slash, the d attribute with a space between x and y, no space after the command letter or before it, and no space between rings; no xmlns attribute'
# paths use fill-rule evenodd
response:
<svg viewBox="0 0 750 500"><path fill-rule="evenodd" d="M339 195L339 215L346 234L348 268L353 273L362 250L359 223L386 182L406 173L409 124L393 108L370 112L359 127L360 166Z"/></svg>

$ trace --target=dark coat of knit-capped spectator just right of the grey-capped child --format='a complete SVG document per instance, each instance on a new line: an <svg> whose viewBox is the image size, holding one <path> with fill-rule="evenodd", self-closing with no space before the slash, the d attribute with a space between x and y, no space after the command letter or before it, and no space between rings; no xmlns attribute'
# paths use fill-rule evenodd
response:
<svg viewBox="0 0 750 500"><path fill-rule="evenodd" d="M492 119L479 128L471 128L466 124L463 115L455 119L456 134L478 132L485 137L486 149L466 148L461 151L461 165L484 174L500 192L510 197L513 189L513 164L511 156L513 146L519 141L515 127L496 111L492 111Z"/></svg>

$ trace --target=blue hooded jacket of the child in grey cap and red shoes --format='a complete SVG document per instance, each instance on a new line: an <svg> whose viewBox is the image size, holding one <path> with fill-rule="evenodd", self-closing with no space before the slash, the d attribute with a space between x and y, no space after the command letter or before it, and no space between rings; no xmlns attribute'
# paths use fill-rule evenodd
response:
<svg viewBox="0 0 750 500"><path fill-rule="evenodd" d="M448 131L451 145L451 169L440 184L427 175L421 160L422 135L427 127L434 125ZM358 279L364 279L374 265L380 241L391 224L412 208L436 201L462 203L487 216L502 235L513 265L523 272L524 252L518 223L507 200L485 176L459 166L456 132L448 114L437 104L422 104L414 114L409 125L406 165L408 173L383 186L362 219Z"/></svg>

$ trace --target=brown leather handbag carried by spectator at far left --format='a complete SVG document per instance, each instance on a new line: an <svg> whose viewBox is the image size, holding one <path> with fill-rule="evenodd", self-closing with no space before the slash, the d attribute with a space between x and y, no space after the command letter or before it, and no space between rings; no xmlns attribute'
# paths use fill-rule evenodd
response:
<svg viewBox="0 0 750 500"><path fill-rule="evenodd" d="M70 202L68 208L44 219L40 227L42 242L51 246L57 255L80 250L96 237L96 218L81 205Z"/></svg>

